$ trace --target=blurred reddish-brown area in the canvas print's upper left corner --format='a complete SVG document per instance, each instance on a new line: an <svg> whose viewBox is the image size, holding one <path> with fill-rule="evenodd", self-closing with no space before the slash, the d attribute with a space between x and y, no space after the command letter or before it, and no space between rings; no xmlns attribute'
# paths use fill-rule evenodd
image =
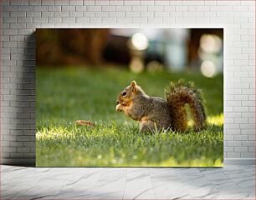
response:
<svg viewBox="0 0 256 200"><path fill-rule="evenodd" d="M101 28L37 29L37 64L100 65L108 35Z"/></svg>

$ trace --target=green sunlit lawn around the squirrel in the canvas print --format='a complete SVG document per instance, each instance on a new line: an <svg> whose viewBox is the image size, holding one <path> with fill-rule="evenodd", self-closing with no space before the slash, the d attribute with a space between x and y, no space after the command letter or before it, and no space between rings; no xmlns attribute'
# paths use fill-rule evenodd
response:
<svg viewBox="0 0 256 200"><path fill-rule="evenodd" d="M131 80L147 94L164 97L168 82L181 77L202 89L206 130L142 134L138 122L115 112L116 97ZM223 166L223 76L38 67L36 107L38 167ZM79 119L96 126L75 125Z"/></svg>

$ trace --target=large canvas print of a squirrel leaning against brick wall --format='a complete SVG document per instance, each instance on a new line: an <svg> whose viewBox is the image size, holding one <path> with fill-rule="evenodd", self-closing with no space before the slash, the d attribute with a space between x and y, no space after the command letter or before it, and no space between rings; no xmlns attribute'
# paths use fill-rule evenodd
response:
<svg viewBox="0 0 256 200"><path fill-rule="evenodd" d="M222 167L223 28L38 28L37 167Z"/></svg>

